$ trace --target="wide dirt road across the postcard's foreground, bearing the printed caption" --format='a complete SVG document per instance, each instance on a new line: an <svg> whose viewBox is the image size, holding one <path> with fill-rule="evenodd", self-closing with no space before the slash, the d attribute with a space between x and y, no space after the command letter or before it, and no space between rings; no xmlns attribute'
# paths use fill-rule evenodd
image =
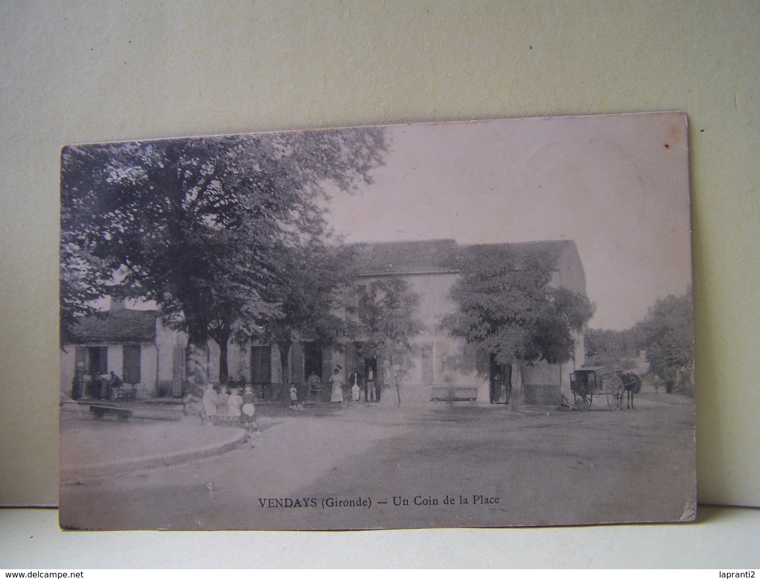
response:
<svg viewBox="0 0 760 579"><path fill-rule="evenodd" d="M255 446L62 485L74 528L356 529L677 521L695 506L693 401L515 413L373 404L260 420Z"/></svg>

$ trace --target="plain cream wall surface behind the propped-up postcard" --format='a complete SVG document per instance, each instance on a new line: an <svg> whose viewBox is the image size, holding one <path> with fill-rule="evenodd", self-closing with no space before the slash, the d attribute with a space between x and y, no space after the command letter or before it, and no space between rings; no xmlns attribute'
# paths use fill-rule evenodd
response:
<svg viewBox="0 0 760 579"><path fill-rule="evenodd" d="M689 115L698 498L760 505L758 2L3 2L0 504L58 492L67 143Z"/></svg>

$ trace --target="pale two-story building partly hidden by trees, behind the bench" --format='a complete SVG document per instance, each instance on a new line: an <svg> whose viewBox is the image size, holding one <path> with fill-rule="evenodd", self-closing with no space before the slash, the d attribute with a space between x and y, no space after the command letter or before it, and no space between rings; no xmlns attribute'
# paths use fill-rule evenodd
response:
<svg viewBox="0 0 760 579"><path fill-rule="evenodd" d="M504 245L518 252L543 253L553 263L550 285L585 295L585 274L573 241ZM584 362L582 335L575 336L575 357L568 363L552 365L542 360L528 365L515 360L515 363L499 364L492 354L477 345L452 336L442 323L443 317L457 308L450 296L459 276L456 264L461 259L469 259L469 253L476 247L461 246L454 240L353 246L360 272L356 286L369 285L384 276L400 276L410 291L420 296L416 318L423 323L423 330L411 340L415 359L402 396L407 403L420 403L429 401L433 386L461 385L477 387L479 403L508 403L513 391L520 392L521 401L526 404L559 404L562 393L572 398L569 376ZM376 368L375 374L383 382L382 360L362 359L356 350L347 343L342 354L333 352L333 365L334 360L340 360L347 373L353 367L365 374L370 367ZM388 398L391 397L386 400Z"/></svg>

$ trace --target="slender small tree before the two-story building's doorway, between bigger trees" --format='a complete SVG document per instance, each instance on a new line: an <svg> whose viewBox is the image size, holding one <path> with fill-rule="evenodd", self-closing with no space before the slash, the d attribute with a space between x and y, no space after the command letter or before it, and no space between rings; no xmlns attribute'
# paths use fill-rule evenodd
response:
<svg viewBox="0 0 760 579"><path fill-rule="evenodd" d="M348 309L358 323L350 332L361 342L362 356L385 363L385 382L394 386L401 406L401 384L413 365L412 338L424 328L416 319L420 296L403 278L389 276L356 287L354 299Z"/></svg>

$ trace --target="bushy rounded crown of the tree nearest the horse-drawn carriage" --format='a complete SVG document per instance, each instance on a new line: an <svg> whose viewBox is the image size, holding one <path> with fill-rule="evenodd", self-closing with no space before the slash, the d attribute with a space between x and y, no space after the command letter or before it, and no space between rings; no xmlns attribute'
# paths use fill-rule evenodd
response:
<svg viewBox="0 0 760 579"><path fill-rule="evenodd" d="M573 332L594 313L587 297L549 284L555 260L540 247L484 245L461 256L451 288L458 310L443 323L498 363L562 363L575 352Z"/></svg>

